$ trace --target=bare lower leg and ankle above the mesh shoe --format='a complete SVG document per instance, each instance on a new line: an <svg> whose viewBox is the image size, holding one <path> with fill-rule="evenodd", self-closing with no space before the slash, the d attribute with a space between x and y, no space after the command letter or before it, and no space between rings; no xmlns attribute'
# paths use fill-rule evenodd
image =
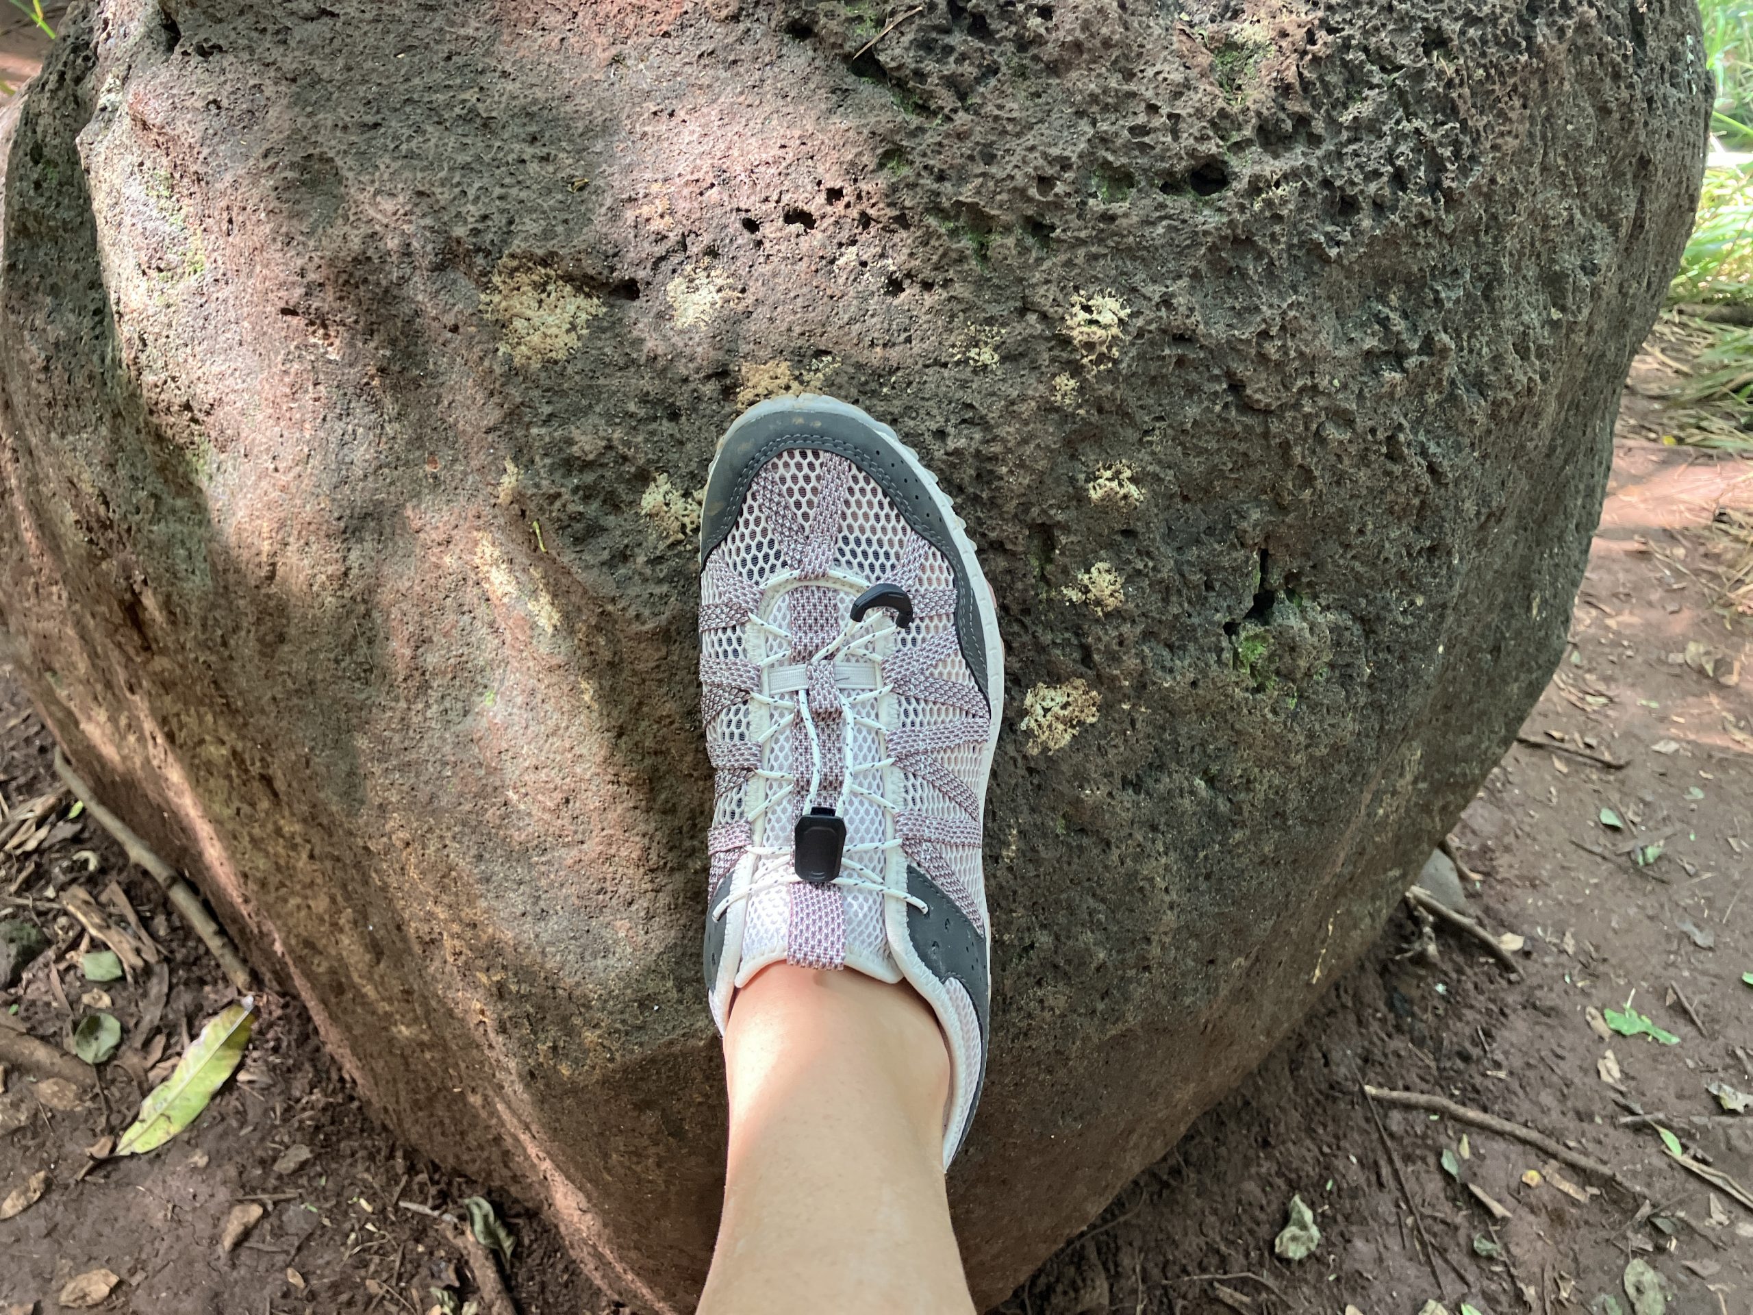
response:
<svg viewBox="0 0 1753 1315"><path fill-rule="evenodd" d="M701 1315L971 1315L943 1192L950 1057L926 1001L775 964L724 1034L731 1147Z"/></svg>

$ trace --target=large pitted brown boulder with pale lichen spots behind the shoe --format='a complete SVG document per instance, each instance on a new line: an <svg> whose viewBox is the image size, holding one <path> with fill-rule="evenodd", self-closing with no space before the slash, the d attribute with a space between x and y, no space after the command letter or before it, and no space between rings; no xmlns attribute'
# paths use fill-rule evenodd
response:
<svg viewBox="0 0 1753 1315"><path fill-rule="evenodd" d="M394 1126L640 1306L720 1184L726 423L894 423L997 593L992 1301L1515 733L1700 175L1690 0L908 9L98 0L11 121L12 656Z"/></svg>

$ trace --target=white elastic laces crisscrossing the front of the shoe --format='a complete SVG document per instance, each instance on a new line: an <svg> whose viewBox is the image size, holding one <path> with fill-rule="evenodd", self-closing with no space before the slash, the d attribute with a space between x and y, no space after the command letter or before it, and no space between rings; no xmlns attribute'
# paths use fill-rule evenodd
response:
<svg viewBox="0 0 1753 1315"><path fill-rule="evenodd" d="M785 640L787 645L792 643L792 635L784 626L775 626L766 617L761 617L761 615L756 615L756 614L750 614L749 621L752 624L759 626L761 629L768 631L770 635L775 635L777 638ZM833 659L852 658L852 659L861 659L861 661L875 661L869 656L869 652L868 652L868 645L875 643L878 638L882 638L884 635L887 635L889 631L892 631L894 629L894 622L889 621L889 626L885 629L875 629L875 628L871 628L873 621L889 621L889 617L885 614L882 614L882 612L873 610L873 612L864 614L864 617L859 619L859 621L847 621L847 624L841 626L840 635L836 635L833 640L829 640L815 654L815 658L810 659L808 665L824 663L824 661L829 661L831 658ZM787 649L780 649L780 650L770 654L768 658L763 658L759 663L756 663L756 670L761 672L761 673L766 673L768 668L777 666L778 663L782 663L789 656L791 656L789 647ZM852 778L855 771L880 771L884 768L894 766L894 756L887 754L889 729L880 721L876 721L875 717L866 717L866 715L862 715L857 710L859 705L862 705L862 703L873 703L873 701L880 700L887 693L891 693L891 687L887 684L884 684L880 679L878 679L878 684L876 684L875 689L866 689L866 691L862 691L859 694L852 694L852 696L848 696L847 691L841 689L838 682L834 684L834 698L840 701L840 717L841 717L841 724L845 726L843 735L845 735L845 743L847 743L847 752L848 752L848 759L845 763L845 770L841 771L841 777L840 777L840 796L834 801L834 814L840 815L840 817L847 815L847 805L852 801L854 794L859 794L861 798L869 800L873 805L876 805L878 808L884 808L891 815L894 815L894 814L899 812L899 807L892 800L889 800L885 794L882 794L880 791L866 789L864 785L859 785ZM773 736L780 735L782 731L791 729L791 726L799 717L803 719L803 729L805 729L805 735L808 736L808 742L810 742L810 793L805 796L803 805L798 808L798 814L803 815L808 808L815 807L815 796L822 789L822 740L820 740L820 735L815 729L815 717L810 712L810 691L808 691L808 684L805 686L805 689L796 691L796 698L791 698L791 700L775 698L773 694L763 694L759 689L752 691L749 694L749 698L750 698L750 701L764 703L770 708L778 708L784 714L784 715L777 717L759 736L756 736L752 740L752 743L761 750L761 761L763 763L766 761L766 749L768 749L768 743L771 743ZM878 757L873 763L859 763L859 764L854 766L854 763L850 761L852 728L854 726L862 726L862 728L866 728L868 731L871 731L876 736L876 742L884 747L884 756L882 757ZM750 824L754 824L754 821L757 817L761 817L770 808L773 808L773 805L780 803L782 800L791 798L792 791L796 789L796 778L789 771L771 771L771 770L761 766L761 768L756 768L754 775L761 777L763 780L768 780L768 782L782 782L782 785L778 789L770 789L770 793L766 794L766 798L763 798L761 803L754 810L750 810L750 814L749 814L749 822ZM910 894L908 891L896 891L896 889L892 889L891 885L887 885L882 880L882 873L875 871L873 868L869 868L864 863L861 863L861 861L857 861L857 859L852 857L854 854L866 854L866 856L884 854L884 852L887 852L891 849L899 849L899 847L901 847L901 838L899 836L896 836L892 840L880 840L880 842L866 840L866 842L861 842L861 843L855 843L855 845L847 845L841 850L841 856L840 856L841 875L834 877L829 882L829 885L840 885L840 887L850 889L850 891L871 891L875 894L884 896L885 899L903 899L908 905L912 905L913 908L917 908L919 912L929 913L931 906L924 899L920 899L915 894ZM784 847L782 849L782 847L775 847L775 845L750 845L745 852L747 854L754 854L756 857L789 857L792 850L791 850L791 847ZM845 870L848 870L848 868L854 873L857 873L857 875L855 877L847 877ZM794 885L794 884L806 884L806 882L796 871L787 871L787 873L784 873L780 877L766 877L766 878L763 878L759 882L752 882L747 889L738 891L738 892L729 894L724 899L720 899L719 906L712 910L712 917L713 917L713 920L724 917L726 910L735 901L738 901L738 899L747 899L750 896L759 894L761 891L771 891L771 889L777 889L777 887L782 887L782 885Z"/></svg>

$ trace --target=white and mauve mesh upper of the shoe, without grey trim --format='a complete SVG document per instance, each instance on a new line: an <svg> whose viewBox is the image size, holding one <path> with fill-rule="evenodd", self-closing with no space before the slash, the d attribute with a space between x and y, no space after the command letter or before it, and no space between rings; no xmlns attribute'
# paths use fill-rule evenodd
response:
<svg viewBox="0 0 1753 1315"><path fill-rule="evenodd" d="M854 707L880 721L884 735L847 722L841 708L819 694L773 693L773 701L763 703L759 694L771 672L808 665L848 624L857 593L878 582L899 584L915 605L910 628L889 629L859 654L866 666L880 670L887 693L880 701ZM889 963L880 894L780 884L791 871L792 828L808 807L805 796L817 757L819 805L841 801L848 764L852 785L884 794L891 805L885 808L855 789L847 793L848 861L869 866L891 885L899 880L903 889L899 864L913 863L985 929L978 810L990 722L955 642L954 621L950 563L854 463L792 449L756 473L701 580L703 712L719 768L713 882L750 843L757 854L785 850L757 857L754 885L770 884L749 898L743 963L789 957L824 968L838 966L847 954ZM812 752L794 712L799 700L810 701L819 752ZM778 722L789 724L775 729ZM871 766L885 749L898 759L898 770ZM756 768L768 775L754 777ZM763 808L787 784L787 798ZM905 857L892 875L885 852L857 849L896 836Z"/></svg>

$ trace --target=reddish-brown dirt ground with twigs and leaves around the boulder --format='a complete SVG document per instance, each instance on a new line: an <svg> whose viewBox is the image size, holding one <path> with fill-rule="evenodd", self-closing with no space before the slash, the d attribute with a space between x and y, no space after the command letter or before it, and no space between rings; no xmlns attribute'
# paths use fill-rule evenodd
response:
<svg viewBox="0 0 1753 1315"><path fill-rule="evenodd" d="M1753 447L1695 445L1699 414L1664 402L1695 347L1669 323L1634 368L1572 647L1451 836L1466 913L1511 935L1513 971L1404 906L1239 1091L999 1310L1753 1315L1753 1105L1725 1108L1753 1092ZM56 785L53 745L0 672L0 800ZM70 1308L63 1289L89 1271L114 1280L98 1308L138 1315L463 1308L480 1259L458 1220L479 1185L373 1122L295 999L258 999L238 1077L186 1133L88 1154L235 992L88 815L68 800L47 821L0 854L0 917L54 947L0 991L0 1056L95 1012L124 1048L88 1099L46 1103L12 1047L0 1199L47 1180L0 1220L0 1313ZM65 901L110 882L161 966L96 984ZM1665 1036L1616 1034L1608 1010ZM1548 1141L1371 1101L1364 1084ZM1292 1198L1320 1233L1301 1261L1274 1254ZM263 1213L228 1250L251 1205ZM524 1315L615 1310L538 1217L493 1205Z"/></svg>

